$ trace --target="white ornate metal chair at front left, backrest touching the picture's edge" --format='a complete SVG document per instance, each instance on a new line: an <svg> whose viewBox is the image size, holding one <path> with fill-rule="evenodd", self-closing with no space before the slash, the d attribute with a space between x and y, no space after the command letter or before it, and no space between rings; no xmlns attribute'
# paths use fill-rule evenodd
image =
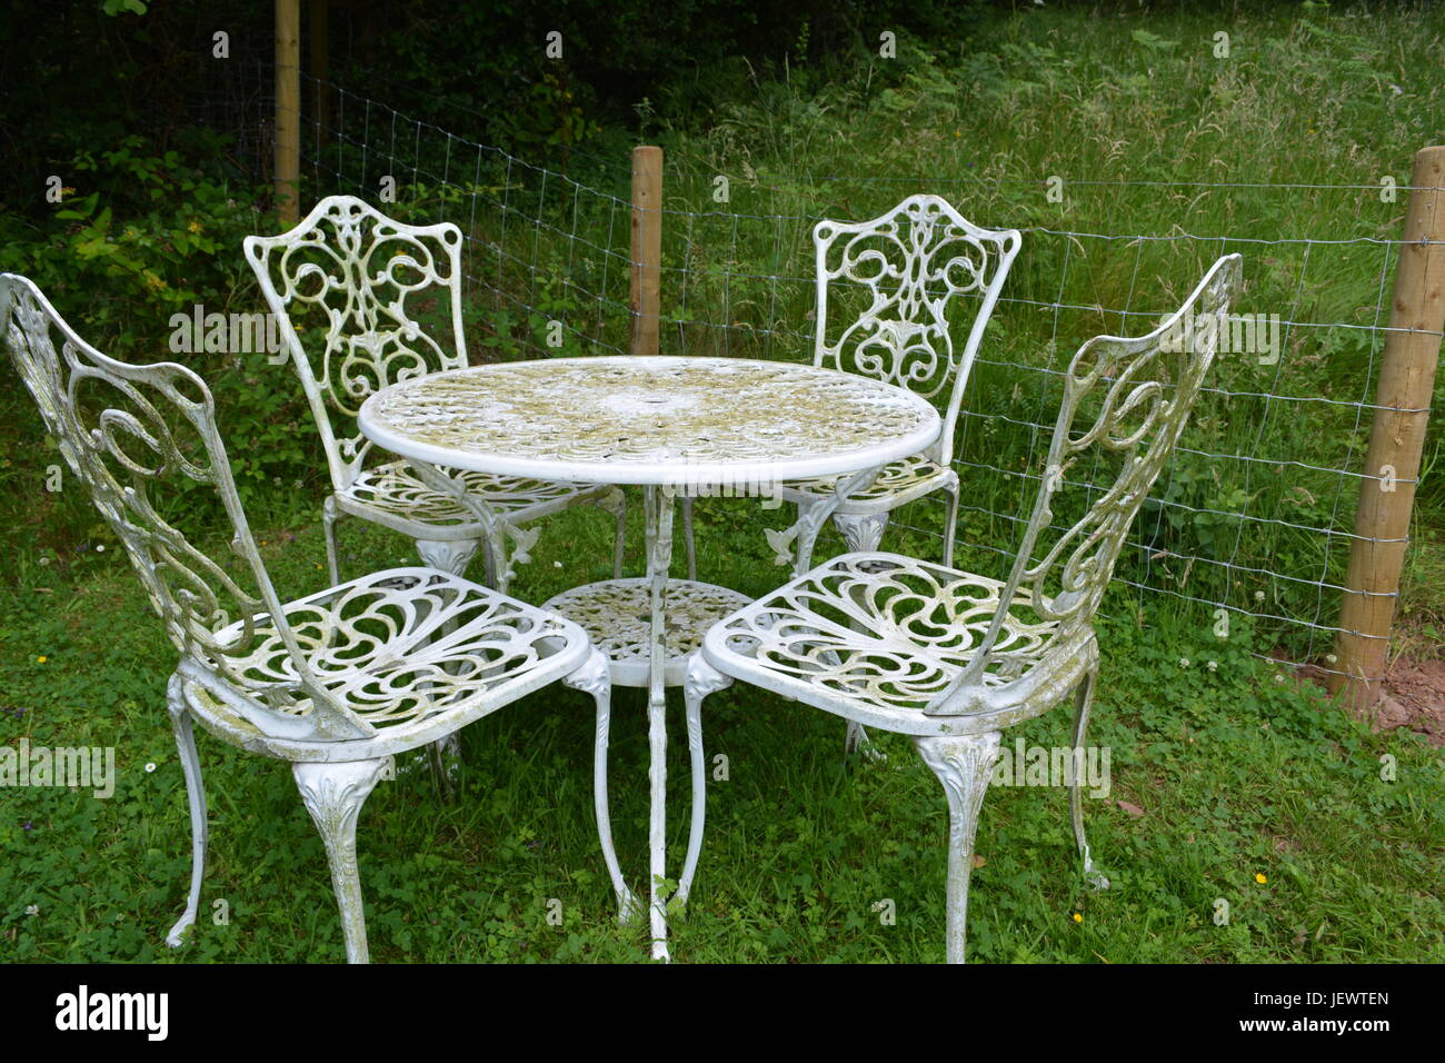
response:
<svg viewBox="0 0 1445 1063"><path fill-rule="evenodd" d="M605 720L605 658L578 625L435 567L371 573L282 602L199 376L101 354L13 273L0 275L0 336L181 654L168 707L191 803L192 876L166 942L179 946L195 923L205 868L195 720L223 742L290 762L327 848L347 959L366 962L355 827L392 758L553 680L592 693ZM178 489L197 484L220 499L230 521L224 555L173 524L176 512L194 508L189 495L178 503ZM604 859L620 882L601 811Z"/></svg>

